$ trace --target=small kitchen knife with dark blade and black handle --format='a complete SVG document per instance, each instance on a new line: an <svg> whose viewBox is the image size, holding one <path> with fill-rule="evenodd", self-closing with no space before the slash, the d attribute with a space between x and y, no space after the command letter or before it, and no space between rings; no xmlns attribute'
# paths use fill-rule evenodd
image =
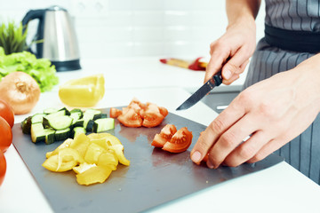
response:
<svg viewBox="0 0 320 213"><path fill-rule="evenodd" d="M216 86L222 83L221 71L213 75L212 78L204 83L194 94L192 94L185 102L183 102L176 110L188 109L194 106L199 100L203 99Z"/></svg>

